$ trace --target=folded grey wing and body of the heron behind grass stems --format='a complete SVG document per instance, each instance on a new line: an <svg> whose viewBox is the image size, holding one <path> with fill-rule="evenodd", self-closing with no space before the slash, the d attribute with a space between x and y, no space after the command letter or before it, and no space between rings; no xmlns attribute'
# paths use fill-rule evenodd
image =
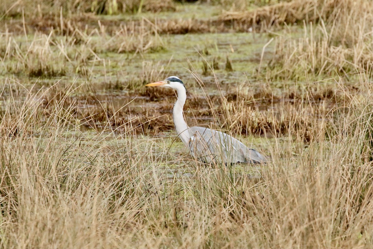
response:
<svg viewBox="0 0 373 249"><path fill-rule="evenodd" d="M190 127L189 149L199 160L224 163L265 162L265 157L232 136L205 127Z"/></svg>

